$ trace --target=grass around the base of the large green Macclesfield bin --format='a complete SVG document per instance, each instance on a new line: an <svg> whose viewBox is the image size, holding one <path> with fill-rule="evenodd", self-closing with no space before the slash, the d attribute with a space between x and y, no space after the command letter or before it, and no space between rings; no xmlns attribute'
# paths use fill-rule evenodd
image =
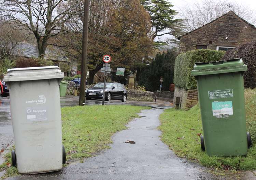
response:
<svg viewBox="0 0 256 180"><path fill-rule="evenodd" d="M245 90L246 128L251 133L253 146L247 157L209 157L201 151L200 138L202 122L199 105L189 111L167 109L160 115L161 139L179 157L197 160L205 167L215 169L253 170L256 169L256 90Z"/></svg>

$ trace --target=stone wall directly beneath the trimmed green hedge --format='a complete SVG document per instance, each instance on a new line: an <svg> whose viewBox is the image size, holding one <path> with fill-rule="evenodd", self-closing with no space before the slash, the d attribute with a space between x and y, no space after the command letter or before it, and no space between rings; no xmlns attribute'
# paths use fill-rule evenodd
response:
<svg viewBox="0 0 256 180"><path fill-rule="evenodd" d="M198 93L197 89L185 89L175 87L173 103L176 102L176 97L181 97L181 109L189 110L191 107L198 103Z"/></svg>

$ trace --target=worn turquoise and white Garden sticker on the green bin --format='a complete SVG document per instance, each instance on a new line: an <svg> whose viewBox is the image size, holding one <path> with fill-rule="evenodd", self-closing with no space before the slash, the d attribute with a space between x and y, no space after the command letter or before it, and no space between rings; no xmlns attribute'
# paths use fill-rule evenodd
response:
<svg viewBox="0 0 256 180"><path fill-rule="evenodd" d="M233 115L232 101L212 102L212 115L219 116L220 114Z"/></svg>

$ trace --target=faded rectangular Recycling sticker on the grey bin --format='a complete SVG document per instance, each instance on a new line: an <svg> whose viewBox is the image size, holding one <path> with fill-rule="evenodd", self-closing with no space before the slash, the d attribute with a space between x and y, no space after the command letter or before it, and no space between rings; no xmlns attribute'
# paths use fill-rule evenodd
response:
<svg viewBox="0 0 256 180"><path fill-rule="evenodd" d="M28 122L48 121L46 106L27 107L26 114Z"/></svg>

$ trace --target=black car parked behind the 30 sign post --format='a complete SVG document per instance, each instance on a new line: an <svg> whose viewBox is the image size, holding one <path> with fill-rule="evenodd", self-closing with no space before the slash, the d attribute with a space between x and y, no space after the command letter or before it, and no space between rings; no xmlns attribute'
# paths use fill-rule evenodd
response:
<svg viewBox="0 0 256 180"><path fill-rule="evenodd" d="M100 82L94 87L85 90L85 97L90 99L102 99L104 83ZM111 99L122 100L126 102L127 93L124 85L120 83L106 83L105 101Z"/></svg>

